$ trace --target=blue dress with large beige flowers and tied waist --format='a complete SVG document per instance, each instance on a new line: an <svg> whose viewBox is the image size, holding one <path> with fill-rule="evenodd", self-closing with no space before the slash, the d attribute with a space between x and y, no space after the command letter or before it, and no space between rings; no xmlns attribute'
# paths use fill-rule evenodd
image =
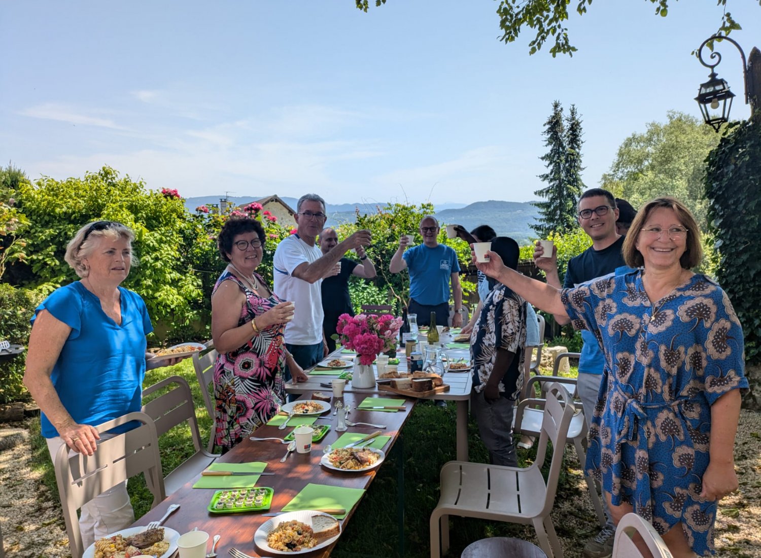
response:
<svg viewBox="0 0 761 558"><path fill-rule="evenodd" d="M748 387L728 296L696 274L653 305L638 269L564 289L562 301L605 355L588 473L614 505L632 504L660 534L681 521L693 552L713 553L716 502L700 497L711 405Z"/></svg>

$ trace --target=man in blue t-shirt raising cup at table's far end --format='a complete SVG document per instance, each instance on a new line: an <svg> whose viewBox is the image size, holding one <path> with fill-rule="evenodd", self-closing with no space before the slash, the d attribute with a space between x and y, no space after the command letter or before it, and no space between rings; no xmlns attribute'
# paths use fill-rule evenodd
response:
<svg viewBox="0 0 761 558"><path fill-rule="evenodd" d="M431 312L436 314L436 324L446 326L449 322L449 286L452 285L454 317L452 327L463 324L463 291L460 289L460 263L457 253L444 244L438 244L438 221L425 215L420 222L423 244L406 250L410 245L403 235L399 248L393 253L389 270L400 273L409 269L409 314L418 315L418 325L431 323ZM405 251L406 250L406 251Z"/></svg>

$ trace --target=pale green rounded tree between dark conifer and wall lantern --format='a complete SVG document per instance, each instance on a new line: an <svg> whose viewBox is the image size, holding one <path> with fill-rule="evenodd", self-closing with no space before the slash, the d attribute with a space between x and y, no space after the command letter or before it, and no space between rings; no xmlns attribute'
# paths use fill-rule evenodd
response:
<svg viewBox="0 0 761 558"><path fill-rule="evenodd" d="M705 231L705 158L721 136L689 114L671 110L667 118L667 123L648 123L644 133L626 138L600 183L635 208L658 196L674 196Z"/></svg>

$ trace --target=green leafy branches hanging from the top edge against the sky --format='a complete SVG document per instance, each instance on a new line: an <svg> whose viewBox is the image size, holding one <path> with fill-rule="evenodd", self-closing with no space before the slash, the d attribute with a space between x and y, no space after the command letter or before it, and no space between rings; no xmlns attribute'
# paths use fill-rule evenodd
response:
<svg viewBox="0 0 761 558"><path fill-rule="evenodd" d="M655 5L655 14L665 18L668 15L668 0L648 0ZM375 0L375 5L380 6L386 3L386 0ZM584 15L587 13L587 6L591 5L592 0L579 0L576 5L576 13ZM717 0L717 5L726 6L727 0ZM549 49L552 58L558 53L573 56L578 49L570 43L568 39L568 27L565 27L565 21L568 20L568 0L501 0L497 8L499 15L499 28L503 34L499 37L503 43L512 43L518 38L521 29L530 27L537 31L537 36L528 44L529 53L533 54L540 50L544 43L552 37L555 44ZM362 11L368 11L370 0L355 0L355 5ZM761 5L761 2L759 2ZM721 16L721 24L717 33L728 35L732 30L740 29L740 24L734 21L732 14L724 11Z"/></svg>

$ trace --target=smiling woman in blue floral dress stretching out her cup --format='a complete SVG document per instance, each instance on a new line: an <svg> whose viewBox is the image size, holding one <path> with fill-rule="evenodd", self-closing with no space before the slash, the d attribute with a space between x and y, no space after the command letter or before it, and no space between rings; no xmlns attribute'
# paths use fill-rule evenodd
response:
<svg viewBox="0 0 761 558"><path fill-rule="evenodd" d="M587 470L614 520L651 521L674 556L714 552L719 499L737 489L734 437L744 375L743 331L726 293L690 271L699 228L673 198L640 209L623 247L639 268L559 291L500 261L479 269L552 314L591 330L606 359Z"/></svg>

